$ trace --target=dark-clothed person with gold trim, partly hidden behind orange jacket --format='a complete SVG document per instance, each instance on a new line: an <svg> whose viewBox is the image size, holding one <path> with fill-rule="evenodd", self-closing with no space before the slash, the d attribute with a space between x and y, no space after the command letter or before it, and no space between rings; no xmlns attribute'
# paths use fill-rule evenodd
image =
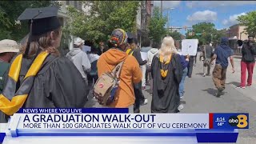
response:
<svg viewBox="0 0 256 144"><path fill-rule="evenodd" d="M140 50L137 48L138 41L136 38L133 38L128 33L128 44L129 49L126 51L127 54L133 55L134 58L138 61L140 66L146 64L146 60L142 60L142 55ZM134 94L135 94L135 102L134 102L134 113L140 113L140 106L147 103L147 99L142 94L142 81L134 84Z"/></svg>

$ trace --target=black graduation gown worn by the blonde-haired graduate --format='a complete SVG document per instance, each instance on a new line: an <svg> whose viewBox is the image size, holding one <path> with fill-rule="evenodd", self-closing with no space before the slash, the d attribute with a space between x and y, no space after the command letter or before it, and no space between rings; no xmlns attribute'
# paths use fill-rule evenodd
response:
<svg viewBox="0 0 256 144"><path fill-rule="evenodd" d="M161 76L159 55L156 54L152 61L151 74L153 78L151 113L178 113L180 102L178 88L182 80L182 65L178 54L173 54L166 78Z"/></svg>

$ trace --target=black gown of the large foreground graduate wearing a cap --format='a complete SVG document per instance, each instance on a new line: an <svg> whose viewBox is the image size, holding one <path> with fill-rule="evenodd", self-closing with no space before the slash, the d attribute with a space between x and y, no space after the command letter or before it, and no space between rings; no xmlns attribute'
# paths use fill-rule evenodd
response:
<svg viewBox="0 0 256 144"><path fill-rule="evenodd" d="M32 60L23 58L17 82L19 87ZM9 71L9 70L8 70ZM18 90L17 87L17 90ZM82 108L85 106L88 86L73 62L65 57L49 55L34 79L34 85L23 108ZM9 98L11 99L11 98ZM0 110L0 122L6 121Z"/></svg>

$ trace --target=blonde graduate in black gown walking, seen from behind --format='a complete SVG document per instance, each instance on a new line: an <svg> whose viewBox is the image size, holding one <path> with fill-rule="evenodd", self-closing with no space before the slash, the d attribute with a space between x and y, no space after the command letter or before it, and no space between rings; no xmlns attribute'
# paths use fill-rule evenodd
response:
<svg viewBox="0 0 256 144"><path fill-rule="evenodd" d="M178 113L180 97L179 83L182 80L182 65L174 46L174 39L162 41L159 54L152 61L153 78L152 113Z"/></svg>

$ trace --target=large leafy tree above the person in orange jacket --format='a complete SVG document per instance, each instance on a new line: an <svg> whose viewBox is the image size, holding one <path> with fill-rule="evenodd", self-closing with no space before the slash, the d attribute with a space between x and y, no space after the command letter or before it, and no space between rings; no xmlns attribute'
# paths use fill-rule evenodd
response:
<svg viewBox="0 0 256 144"><path fill-rule="evenodd" d="M88 13L68 8L71 21L66 26L70 34L98 43L106 41L116 28L134 32L138 1L86 1Z"/></svg>

